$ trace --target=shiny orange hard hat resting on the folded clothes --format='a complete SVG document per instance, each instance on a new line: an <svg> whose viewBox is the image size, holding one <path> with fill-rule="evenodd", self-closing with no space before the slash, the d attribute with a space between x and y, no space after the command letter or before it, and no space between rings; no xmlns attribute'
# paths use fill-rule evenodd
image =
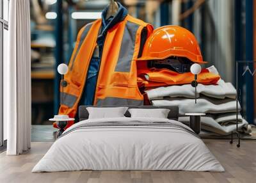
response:
<svg viewBox="0 0 256 183"><path fill-rule="evenodd" d="M163 26L155 29L145 42L142 56L138 60L164 60L170 56L206 63L193 33L180 26Z"/></svg>

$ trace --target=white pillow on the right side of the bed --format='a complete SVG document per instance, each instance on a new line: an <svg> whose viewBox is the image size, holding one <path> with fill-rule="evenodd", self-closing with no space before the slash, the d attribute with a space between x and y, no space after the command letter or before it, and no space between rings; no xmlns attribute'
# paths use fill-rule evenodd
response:
<svg viewBox="0 0 256 183"><path fill-rule="evenodd" d="M128 109L132 118L167 118L170 109Z"/></svg>

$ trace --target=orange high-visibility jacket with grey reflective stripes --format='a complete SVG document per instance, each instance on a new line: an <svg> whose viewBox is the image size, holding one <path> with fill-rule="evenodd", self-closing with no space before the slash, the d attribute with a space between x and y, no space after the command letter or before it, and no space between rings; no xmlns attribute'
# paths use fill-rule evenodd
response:
<svg viewBox="0 0 256 183"><path fill-rule="evenodd" d="M84 85L102 20L84 26L77 35L77 43L65 75L64 101L59 113L74 117ZM127 15L108 30L102 51L94 106L143 105L137 85L136 59L140 51L141 31L147 29L148 36L153 27L142 20ZM62 101L61 101L62 102Z"/></svg>

